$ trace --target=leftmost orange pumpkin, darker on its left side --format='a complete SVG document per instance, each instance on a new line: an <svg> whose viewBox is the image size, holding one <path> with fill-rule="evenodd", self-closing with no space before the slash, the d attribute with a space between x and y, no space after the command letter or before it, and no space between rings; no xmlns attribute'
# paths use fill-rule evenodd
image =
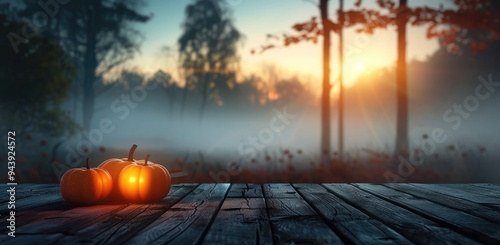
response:
<svg viewBox="0 0 500 245"><path fill-rule="evenodd" d="M61 178L61 195L64 200L78 204L89 205L109 196L113 189L113 181L108 171L100 168L90 168L87 158L87 168L70 169Z"/></svg>

